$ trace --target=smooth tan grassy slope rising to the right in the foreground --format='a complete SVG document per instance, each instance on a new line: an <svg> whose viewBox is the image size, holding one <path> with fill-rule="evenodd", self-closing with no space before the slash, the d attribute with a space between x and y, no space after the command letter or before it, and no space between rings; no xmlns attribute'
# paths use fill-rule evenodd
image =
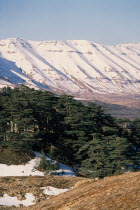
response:
<svg viewBox="0 0 140 210"><path fill-rule="evenodd" d="M77 187L34 207L24 209L139 209L140 172L107 177L97 182L79 182Z"/></svg>

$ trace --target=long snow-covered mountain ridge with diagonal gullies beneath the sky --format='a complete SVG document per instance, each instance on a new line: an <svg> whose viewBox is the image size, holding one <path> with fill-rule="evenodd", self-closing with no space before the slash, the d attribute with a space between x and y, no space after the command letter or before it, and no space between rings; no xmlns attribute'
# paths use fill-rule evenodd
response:
<svg viewBox="0 0 140 210"><path fill-rule="evenodd" d="M140 92L140 43L0 40L0 87L25 84L78 97Z"/></svg>

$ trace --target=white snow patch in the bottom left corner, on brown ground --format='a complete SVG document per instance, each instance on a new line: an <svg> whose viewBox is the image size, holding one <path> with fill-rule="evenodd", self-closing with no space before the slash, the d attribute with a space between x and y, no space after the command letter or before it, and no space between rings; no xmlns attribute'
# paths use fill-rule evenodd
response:
<svg viewBox="0 0 140 210"><path fill-rule="evenodd" d="M33 201L35 200L35 197L32 193L26 193L25 200L18 200L17 197L10 197L7 194L4 194L3 197L0 198L0 205L2 206L19 206L22 204L23 206L30 206L34 205Z"/></svg>

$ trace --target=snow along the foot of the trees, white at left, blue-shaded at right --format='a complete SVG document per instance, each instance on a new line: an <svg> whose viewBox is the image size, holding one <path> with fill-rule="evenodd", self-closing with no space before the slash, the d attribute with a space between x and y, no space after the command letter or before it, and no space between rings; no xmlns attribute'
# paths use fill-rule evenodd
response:
<svg viewBox="0 0 140 210"><path fill-rule="evenodd" d="M44 173L37 170L35 167L38 166L41 153L35 152L36 157L30 160L25 165L6 165L0 164L0 176L44 176ZM46 160L51 160L46 156ZM53 161L56 163L56 161ZM56 175L60 176L76 176L74 170L62 163L59 165L59 169L55 170Z"/></svg>

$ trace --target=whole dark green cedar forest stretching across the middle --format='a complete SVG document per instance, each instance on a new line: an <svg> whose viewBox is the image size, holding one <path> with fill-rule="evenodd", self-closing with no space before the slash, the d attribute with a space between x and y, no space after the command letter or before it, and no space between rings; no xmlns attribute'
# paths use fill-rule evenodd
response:
<svg viewBox="0 0 140 210"><path fill-rule="evenodd" d="M140 165L140 119L123 120L93 102L26 86L0 91L0 148L45 151L93 177Z"/></svg>

